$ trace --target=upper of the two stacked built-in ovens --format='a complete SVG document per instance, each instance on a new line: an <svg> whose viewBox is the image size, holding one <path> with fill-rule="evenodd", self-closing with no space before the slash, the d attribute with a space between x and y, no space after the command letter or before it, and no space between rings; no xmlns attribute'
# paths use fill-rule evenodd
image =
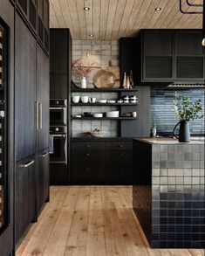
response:
<svg viewBox="0 0 205 256"><path fill-rule="evenodd" d="M50 100L50 125L67 125L66 100Z"/></svg>

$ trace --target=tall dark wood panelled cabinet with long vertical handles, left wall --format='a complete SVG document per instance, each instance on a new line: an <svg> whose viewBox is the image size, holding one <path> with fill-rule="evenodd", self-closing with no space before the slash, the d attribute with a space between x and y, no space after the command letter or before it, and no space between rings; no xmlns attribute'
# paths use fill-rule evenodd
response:
<svg viewBox="0 0 205 256"><path fill-rule="evenodd" d="M44 36L39 38L39 19L31 26L32 1L24 2L26 8L17 1L15 15L16 243L49 199L49 58ZM38 3L33 7L39 16ZM44 17L48 13L42 22Z"/></svg>

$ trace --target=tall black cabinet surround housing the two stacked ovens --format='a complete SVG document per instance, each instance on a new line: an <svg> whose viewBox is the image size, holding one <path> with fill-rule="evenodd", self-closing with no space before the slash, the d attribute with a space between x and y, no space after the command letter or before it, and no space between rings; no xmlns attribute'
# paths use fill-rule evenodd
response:
<svg viewBox="0 0 205 256"><path fill-rule="evenodd" d="M70 138L71 128L70 95L72 84L72 37L69 29L50 30L50 99L67 100L65 109L65 154L67 163L50 163L51 184L67 184L70 181ZM60 125L59 125L60 126ZM58 124L57 124L58 127ZM58 134L60 135L60 133ZM59 140L60 141L60 140ZM62 141L61 141L62 143ZM60 155L61 146L54 145ZM55 149L54 149L55 151Z"/></svg>

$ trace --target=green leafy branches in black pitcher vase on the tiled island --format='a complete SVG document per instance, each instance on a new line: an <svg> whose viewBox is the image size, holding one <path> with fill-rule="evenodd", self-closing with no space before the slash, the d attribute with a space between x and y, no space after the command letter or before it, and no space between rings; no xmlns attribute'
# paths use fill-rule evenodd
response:
<svg viewBox="0 0 205 256"><path fill-rule="evenodd" d="M202 111L202 100L191 102L189 97L179 96L176 94L174 99L174 111L178 120L174 127L174 136L179 142L190 142L189 121L201 119L203 115L198 113ZM175 134L175 129L180 125L179 136Z"/></svg>

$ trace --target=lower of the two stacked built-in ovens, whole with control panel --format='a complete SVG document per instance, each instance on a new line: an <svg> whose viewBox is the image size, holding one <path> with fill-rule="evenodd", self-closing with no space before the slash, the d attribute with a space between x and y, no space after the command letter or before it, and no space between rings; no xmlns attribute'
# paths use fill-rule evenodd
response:
<svg viewBox="0 0 205 256"><path fill-rule="evenodd" d="M64 127L50 128L50 163L67 164L67 134Z"/></svg>

